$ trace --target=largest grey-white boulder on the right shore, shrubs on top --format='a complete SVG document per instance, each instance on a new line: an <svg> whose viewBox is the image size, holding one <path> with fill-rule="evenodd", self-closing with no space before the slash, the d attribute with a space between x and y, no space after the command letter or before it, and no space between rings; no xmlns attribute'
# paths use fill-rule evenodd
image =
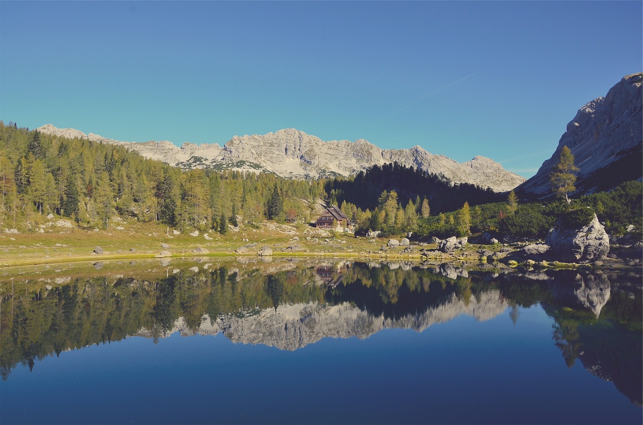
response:
<svg viewBox="0 0 643 425"><path fill-rule="evenodd" d="M563 220L558 220L545 243L565 261L599 261L610 252L610 236L596 214L588 225L579 229L567 227Z"/></svg>

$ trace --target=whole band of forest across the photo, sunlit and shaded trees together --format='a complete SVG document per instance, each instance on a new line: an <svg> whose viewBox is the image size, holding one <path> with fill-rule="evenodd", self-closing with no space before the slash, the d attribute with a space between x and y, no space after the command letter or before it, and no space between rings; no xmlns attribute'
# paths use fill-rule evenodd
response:
<svg viewBox="0 0 643 425"><path fill-rule="evenodd" d="M356 234L467 236L497 232L544 238L570 209L563 201L523 203L514 193L453 185L399 164L355 177L296 180L270 173L183 170L121 146L40 134L0 121L0 229L44 232L48 214L82 229L107 229L114 219L163 223L175 229L227 232L268 219L309 223L319 199L340 205ZM642 184L574 200L590 207L610 234L642 229ZM586 214L585 214L586 215ZM242 220L239 220L242 219Z"/></svg>

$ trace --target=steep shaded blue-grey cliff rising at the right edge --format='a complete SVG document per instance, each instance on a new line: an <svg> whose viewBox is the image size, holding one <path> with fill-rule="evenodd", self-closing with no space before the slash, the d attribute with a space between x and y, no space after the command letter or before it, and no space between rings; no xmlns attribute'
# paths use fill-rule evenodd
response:
<svg viewBox="0 0 643 425"><path fill-rule="evenodd" d="M570 148L580 169L577 193L611 189L642 177L642 80L643 73L625 76L607 96L580 108L554 155L516 190L526 195L550 195L549 175L563 146Z"/></svg>

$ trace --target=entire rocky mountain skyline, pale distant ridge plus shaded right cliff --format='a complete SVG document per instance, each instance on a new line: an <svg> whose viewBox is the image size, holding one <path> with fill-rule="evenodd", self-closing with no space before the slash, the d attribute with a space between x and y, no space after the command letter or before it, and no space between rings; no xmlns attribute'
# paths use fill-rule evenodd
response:
<svg viewBox="0 0 643 425"><path fill-rule="evenodd" d="M498 162L481 156L460 164L421 146L381 149L364 139L322 141L294 128L264 135L235 135L223 146L186 142L180 148L169 141L122 142L51 124L37 130L118 144L143 157L185 169L266 171L287 178L318 178L353 175L374 165L397 162L445 177L454 184L469 183L496 192L516 188L522 197L546 198L552 194L549 176L563 146L570 148L579 168L575 195L609 190L643 176L642 82L643 73L624 76L606 96L581 107L568 123L552 157L526 181Z"/></svg>

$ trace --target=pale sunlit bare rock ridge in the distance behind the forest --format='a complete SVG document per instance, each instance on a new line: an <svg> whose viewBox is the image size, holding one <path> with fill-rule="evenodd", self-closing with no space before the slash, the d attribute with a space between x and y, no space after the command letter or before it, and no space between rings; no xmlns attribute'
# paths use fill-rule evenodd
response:
<svg viewBox="0 0 643 425"><path fill-rule="evenodd" d="M498 162L481 156L459 164L444 155L429 153L420 146L380 149L363 139L326 142L294 128L264 135L235 135L223 146L186 142L181 148L168 141L121 142L93 133L87 135L73 128L56 128L51 124L37 130L45 134L117 144L143 157L186 169L268 171L281 177L317 178L348 176L374 165L398 162L431 174L444 175L456 184L475 184L490 187L496 192L510 191L525 181L525 178L502 168Z"/></svg>

